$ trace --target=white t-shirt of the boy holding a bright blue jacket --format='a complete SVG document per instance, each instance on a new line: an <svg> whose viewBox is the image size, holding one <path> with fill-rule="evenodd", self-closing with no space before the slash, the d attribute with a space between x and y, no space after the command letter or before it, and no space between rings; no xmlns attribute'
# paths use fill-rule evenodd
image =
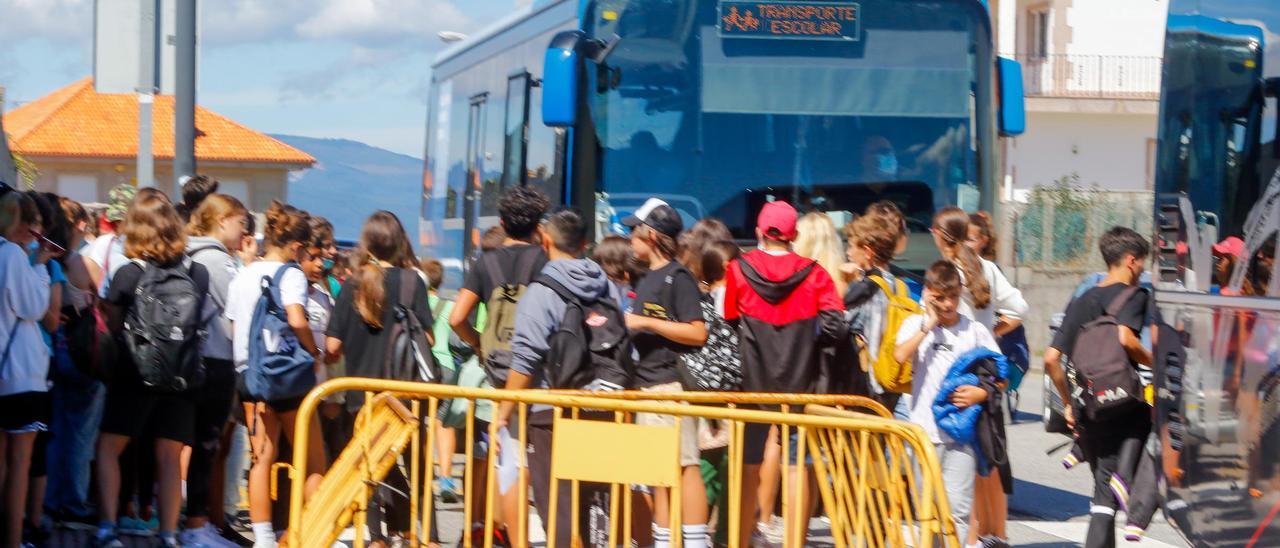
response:
<svg viewBox="0 0 1280 548"><path fill-rule="evenodd" d="M908 318L897 332L896 342L901 344L915 337L923 324L924 315ZM911 423L924 428L933 443L942 443L945 435L938 431L938 425L933 421L933 399L942 389L942 380L960 355L979 347L1000 352L1000 346L996 344L989 329L961 315L960 321L950 328L941 325L933 328L915 351L909 415Z"/></svg>

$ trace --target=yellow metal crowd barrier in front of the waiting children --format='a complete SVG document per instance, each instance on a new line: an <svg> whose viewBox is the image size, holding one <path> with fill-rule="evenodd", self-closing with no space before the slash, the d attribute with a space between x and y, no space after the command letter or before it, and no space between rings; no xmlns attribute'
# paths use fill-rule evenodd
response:
<svg viewBox="0 0 1280 548"><path fill-rule="evenodd" d="M365 526L369 504L381 481L396 466L403 466L408 479L408 493L399 496L408 502L411 525L407 534L410 545L435 545L431 538L435 502L433 481L435 475L436 428L422 428L425 417L436 417L442 402L463 399L467 402L465 426L465 501L462 504L462 535L458 545L472 547L470 524L483 522L485 548L494 542L495 512L500 503L497 496L497 460L499 451L489 451L480 470L472 462L475 431L474 415L477 402L512 402L516 411L511 419L509 442L527 447L527 424L532 410L550 407L550 508L541 515L547 545L556 547L563 538L563 528L570 528L572 545L631 545L632 516L636 511L632 487L648 485L669 488L672 547L681 547L682 469L680 465L681 421L673 426L632 424L635 414L675 415L719 421L728 428L727 544L745 547L751 530L750 507L756 494L742 493L748 474L756 467L745 465L745 435L748 424L777 428L783 465L782 510L786 516L786 548L800 547L809 534L813 506L796 501L809 501L806 493L817 490L823 512L831 520L829 535L837 547L959 547L955 524L951 521L946 489L933 444L923 429L892 420L879 403L856 396L810 394L745 394L745 393L648 393L648 392L558 392L558 391L497 391L461 388L440 384L406 383L392 380L339 378L314 389L302 402L297 425L307 425L315 416L321 399L339 392L365 392L366 405L356 417L355 435L324 475L316 493L305 494L301 478L306 470L307 455L302 449L293 453L288 466L291 478L288 545L328 548L349 526L355 528L355 545L365 544ZM687 405L676 405L676 403ZM859 410L854 412L850 410ZM424 412L425 411L425 412ZM543 414L545 415L545 414ZM489 439L497 439L497 428L490 425ZM543 430L547 431L547 430ZM296 448L307 446L310 429L296 429ZM788 440L795 439L795 443ZM525 451L518 451L518 479L516 481L515 516L504 516L512 545L529 545L529 493L530 462ZM485 474L483 493L471 488L476 474ZM595 493L607 493L605 508L591 508L593 519L607 516L603 529L593 530L584 539L580 493L593 485ZM815 485L815 488L814 488ZM571 493L568 522L557 522L559 490ZM384 488L385 489L385 488ZM477 501L475 497L483 496ZM713 501L714 502L714 501ZM754 504L751 506L754 507ZM481 510L483 508L483 510ZM477 516L476 512L483 512ZM724 515L724 513L722 513ZM370 526L380 526L372 524ZM515 529L515 531L511 531ZM479 540L475 542L480 544Z"/></svg>

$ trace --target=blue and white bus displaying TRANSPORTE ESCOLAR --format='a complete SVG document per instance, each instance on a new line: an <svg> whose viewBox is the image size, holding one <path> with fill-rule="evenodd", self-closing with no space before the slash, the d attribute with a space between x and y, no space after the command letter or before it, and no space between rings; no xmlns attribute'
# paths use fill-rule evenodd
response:
<svg viewBox="0 0 1280 548"><path fill-rule="evenodd" d="M991 209L1024 125L991 35L982 0L534 1L433 67L421 251L457 287L502 191L531 184L595 237L658 196L744 243L765 201L838 223L892 200L923 268L933 211Z"/></svg>

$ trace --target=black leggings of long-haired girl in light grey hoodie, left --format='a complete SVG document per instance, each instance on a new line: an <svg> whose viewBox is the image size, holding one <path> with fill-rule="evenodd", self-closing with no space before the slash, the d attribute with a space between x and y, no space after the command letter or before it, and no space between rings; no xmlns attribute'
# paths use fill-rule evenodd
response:
<svg viewBox="0 0 1280 548"><path fill-rule="evenodd" d="M187 516L209 517L209 479L223 430L236 401L236 365L227 360L205 360L205 385L196 391L196 443L191 446L187 467ZM221 508L223 501L216 501Z"/></svg>

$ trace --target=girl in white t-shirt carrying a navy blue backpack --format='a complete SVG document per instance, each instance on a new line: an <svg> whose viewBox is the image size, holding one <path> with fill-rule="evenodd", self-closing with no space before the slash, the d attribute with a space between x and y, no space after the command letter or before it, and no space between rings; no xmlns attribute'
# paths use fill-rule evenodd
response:
<svg viewBox="0 0 1280 548"><path fill-rule="evenodd" d="M292 206L271 202L271 207L266 210L266 227L262 233L265 255L261 260L242 268L236 274L227 294L225 314L232 320L232 355L236 366L242 369L250 365L250 329L253 321L253 309L262 296L262 279L265 278L278 280L279 306L284 309L289 328L298 344L316 359L314 367L319 383L324 379L325 369L306 312L307 278L298 266L298 262L307 257L307 245L311 243L310 215ZM279 453L280 434L283 433L292 443L297 410L305 394L264 402L255 401L243 382L241 382L239 388L253 453L253 465L250 467L248 475L248 515L253 528L255 545L274 547L271 465ZM320 421L312 417L308 428L311 430L307 437L310 443L305 448L307 452L307 496L320 487L325 461ZM294 451L303 451L303 448L296 447Z"/></svg>

